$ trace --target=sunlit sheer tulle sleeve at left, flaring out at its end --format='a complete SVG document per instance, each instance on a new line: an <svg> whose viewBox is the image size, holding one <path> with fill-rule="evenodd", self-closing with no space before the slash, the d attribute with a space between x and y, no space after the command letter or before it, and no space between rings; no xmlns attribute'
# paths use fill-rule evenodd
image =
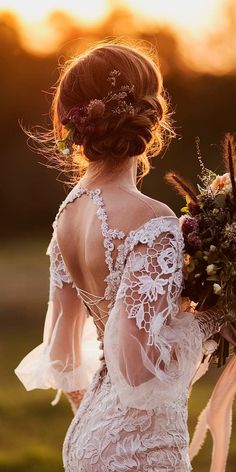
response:
<svg viewBox="0 0 236 472"><path fill-rule="evenodd" d="M93 323L66 269L55 235L50 256L50 294L42 343L15 369L26 390L87 389L99 365Z"/></svg>

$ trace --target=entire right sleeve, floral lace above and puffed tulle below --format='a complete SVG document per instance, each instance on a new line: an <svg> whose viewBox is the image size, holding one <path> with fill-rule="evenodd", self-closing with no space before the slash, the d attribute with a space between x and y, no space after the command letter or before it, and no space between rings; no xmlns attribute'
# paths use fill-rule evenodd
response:
<svg viewBox="0 0 236 472"><path fill-rule="evenodd" d="M105 330L112 382L125 406L140 409L178 398L202 355L199 324L180 310L183 241L178 219L157 223L135 239Z"/></svg>

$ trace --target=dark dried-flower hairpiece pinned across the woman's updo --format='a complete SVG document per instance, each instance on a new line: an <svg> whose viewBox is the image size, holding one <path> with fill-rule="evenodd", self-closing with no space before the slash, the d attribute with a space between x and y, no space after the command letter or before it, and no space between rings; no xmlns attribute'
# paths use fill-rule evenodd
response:
<svg viewBox="0 0 236 472"><path fill-rule="evenodd" d="M112 88L116 86L120 72L112 70L107 78ZM122 85L118 91L110 90L106 97L93 99L87 105L73 107L62 120L62 125L68 130L63 139L56 141L59 151L67 156L71 154L73 144L81 145L84 137L91 136L96 131L96 124L106 110L121 115L133 115L134 107L127 102L129 94L134 92L134 85Z"/></svg>

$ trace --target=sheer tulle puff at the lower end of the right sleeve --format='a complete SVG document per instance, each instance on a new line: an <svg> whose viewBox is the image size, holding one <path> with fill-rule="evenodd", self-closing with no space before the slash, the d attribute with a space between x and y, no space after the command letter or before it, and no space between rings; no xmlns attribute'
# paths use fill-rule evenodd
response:
<svg viewBox="0 0 236 472"><path fill-rule="evenodd" d="M105 355L112 383L123 406L148 410L174 401L183 391L187 392L202 358L202 343L200 336L196 337L199 329L193 316L181 313L178 321L170 323L168 328L175 333L172 344L177 348L176 359L172 358L163 370L156 365L155 347L146 345L145 348L138 335L129 335L127 331L124 336L124 325L119 326L118 320L116 306L106 325ZM165 327L161 335L165 336Z"/></svg>

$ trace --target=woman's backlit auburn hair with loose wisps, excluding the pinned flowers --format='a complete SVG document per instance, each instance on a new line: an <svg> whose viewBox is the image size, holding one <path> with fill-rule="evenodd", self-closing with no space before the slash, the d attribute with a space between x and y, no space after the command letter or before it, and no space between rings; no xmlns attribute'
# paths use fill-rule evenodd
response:
<svg viewBox="0 0 236 472"><path fill-rule="evenodd" d="M71 109L88 105L91 100L107 96L107 78L118 70L119 89L133 86L133 114L114 114L106 108L95 132L84 136L80 146L73 146L69 156L56 150L55 142L68 132L62 122ZM119 41L97 43L61 66L51 107L52 130L39 137L28 132L49 156L49 166L71 174L74 183L90 162L98 169L114 171L127 159L138 156L139 178L150 170L150 158L169 144L175 136L172 112L156 51L150 45L125 44ZM50 164L51 163L51 164Z"/></svg>

